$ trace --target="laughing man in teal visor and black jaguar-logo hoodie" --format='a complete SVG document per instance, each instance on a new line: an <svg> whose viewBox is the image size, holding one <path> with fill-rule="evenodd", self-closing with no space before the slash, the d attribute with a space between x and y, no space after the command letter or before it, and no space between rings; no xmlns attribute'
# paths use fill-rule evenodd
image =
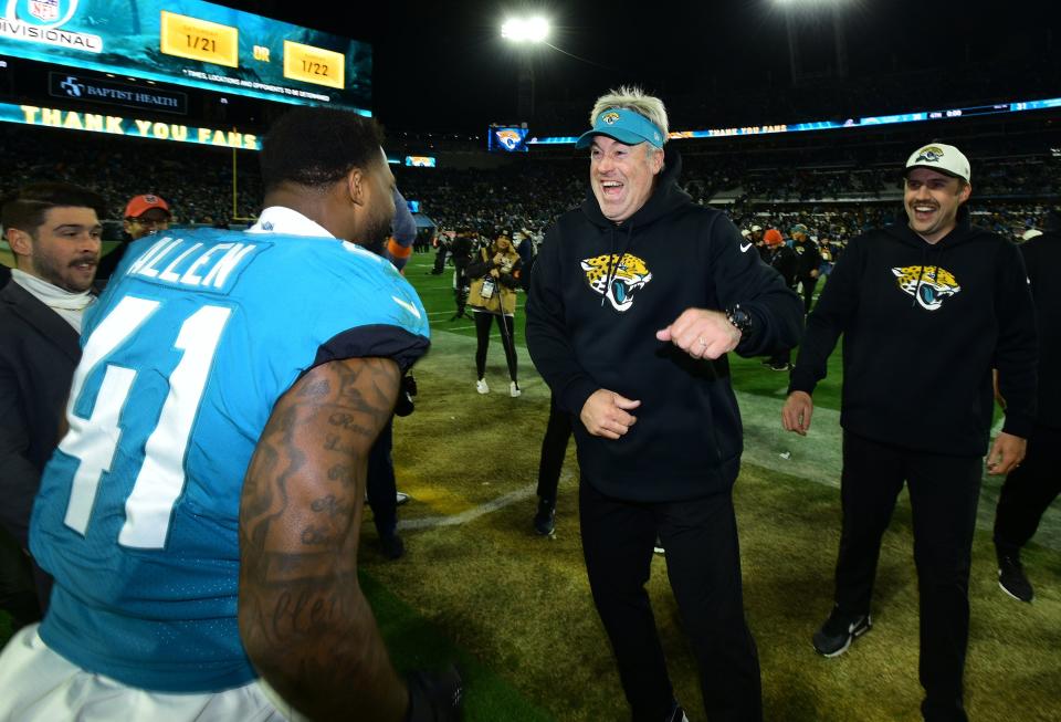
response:
<svg viewBox="0 0 1061 722"><path fill-rule="evenodd" d="M590 192L549 229L527 347L572 416L593 601L638 722L684 719L644 584L656 534L712 720L761 719L731 491L742 429L726 353L799 342L799 299L721 212L677 185L659 98L597 101ZM634 416L635 415L635 416Z"/></svg>

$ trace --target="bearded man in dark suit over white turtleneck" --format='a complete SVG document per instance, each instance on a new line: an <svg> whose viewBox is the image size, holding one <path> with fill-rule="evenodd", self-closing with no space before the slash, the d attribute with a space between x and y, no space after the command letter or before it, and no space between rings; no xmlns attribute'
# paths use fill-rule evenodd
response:
<svg viewBox="0 0 1061 722"><path fill-rule="evenodd" d="M59 442L85 308L95 301L104 201L69 184L35 184L3 205L14 254L0 291L0 526L29 548L41 472ZM34 567L41 608L51 580Z"/></svg>

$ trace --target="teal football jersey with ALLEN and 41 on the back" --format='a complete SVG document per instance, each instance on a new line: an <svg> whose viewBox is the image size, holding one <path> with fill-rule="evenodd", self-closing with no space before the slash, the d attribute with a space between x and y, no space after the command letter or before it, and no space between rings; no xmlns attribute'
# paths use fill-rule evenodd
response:
<svg viewBox="0 0 1061 722"><path fill-rule="evenodd" d="M333 359L429 345L386 260L335 239L138 241L86 315L69 433L30 545L55 577L41 637L125 684L209 692L255 672L237 627L243 477L276 400Z"/></svg>

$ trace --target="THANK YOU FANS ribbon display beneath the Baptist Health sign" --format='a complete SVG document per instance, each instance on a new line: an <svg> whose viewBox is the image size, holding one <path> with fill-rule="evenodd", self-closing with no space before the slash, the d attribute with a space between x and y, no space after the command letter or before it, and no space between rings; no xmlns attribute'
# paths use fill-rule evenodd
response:
<svg viewBox="0 0 1061 722"><path fill-rule="evenodd" d="M179 123L161 123L127 118L120 115L102 115L97 113L78 113L60 108L40 107L36 105L12 105L0 103L0 123L21 123L65 130L84 130L90 133L109 133L130 138L149 138L153 140L176 140L179 143L197 143L222 148L239 150L261 150L261 138L251 133L239 130L218 130L216 128L200 128Z"/></svg>

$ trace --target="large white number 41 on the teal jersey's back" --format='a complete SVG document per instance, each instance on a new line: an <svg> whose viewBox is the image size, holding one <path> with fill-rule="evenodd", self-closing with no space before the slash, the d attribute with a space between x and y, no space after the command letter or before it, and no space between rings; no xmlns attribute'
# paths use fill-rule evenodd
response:
<svg viewBox="0 0 1061 722"><path fill-rule="evenodd" d="M59 448L81 461L74 474L64 522L85 534L104 472L111 470L122 439L118 421L136 380L137 370L108 364L92 416L74 414L85 379L160 306L157 301L123 299L85 342L74 374L66 418L70 431ZM162 548L174 504L185 486L185 452L199 412L207 377L231 308L202 306L180 326L174 347L183 354L169 377L169 393L158 425L145 446L144 463L125 502L125 523L118 535L123 546Z"/></svg>

